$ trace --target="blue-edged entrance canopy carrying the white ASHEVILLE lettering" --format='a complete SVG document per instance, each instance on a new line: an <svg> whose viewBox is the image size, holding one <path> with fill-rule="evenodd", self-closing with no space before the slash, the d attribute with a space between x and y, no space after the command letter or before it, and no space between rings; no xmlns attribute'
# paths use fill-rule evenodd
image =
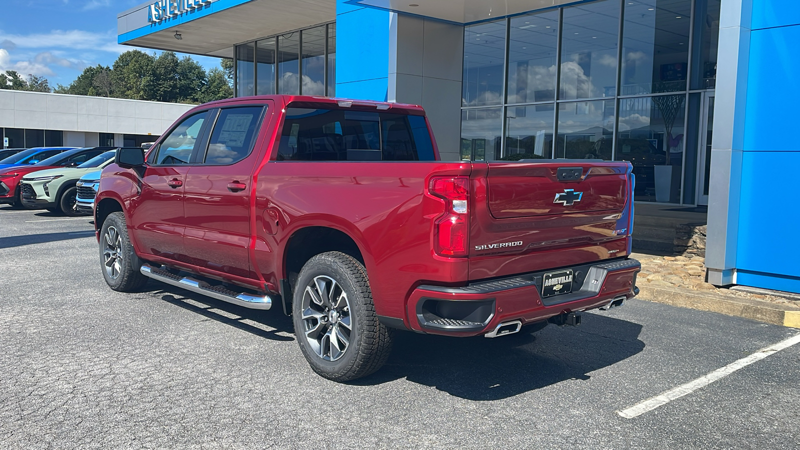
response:
<svg viewBox="0 0 800 450"><path fill-rule="evenodd" d="M230 58L240 42L335 18L331 0L150 0L118 14L118 42Z"/></svg>

